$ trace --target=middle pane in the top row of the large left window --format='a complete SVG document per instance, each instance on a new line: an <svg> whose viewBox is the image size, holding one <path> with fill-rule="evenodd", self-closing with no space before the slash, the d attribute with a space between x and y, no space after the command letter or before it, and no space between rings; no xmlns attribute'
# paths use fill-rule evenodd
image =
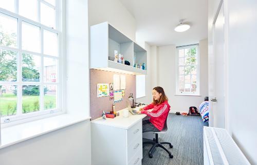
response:
<svg viewBox="0 0 257 165"><path fill-rule="evenodd" d="M37 0L19 0L19 14L32 20L38 20Z"/></svg>

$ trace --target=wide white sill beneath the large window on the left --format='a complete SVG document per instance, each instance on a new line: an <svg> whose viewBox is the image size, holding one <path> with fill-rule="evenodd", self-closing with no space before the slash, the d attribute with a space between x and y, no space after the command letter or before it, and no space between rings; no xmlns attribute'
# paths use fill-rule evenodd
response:
<svg viewBox="0 0 257 165"><path fill-rule="evenodd" d="M75 123L82 122L90 118L91 117L63 114L4 128L1 130L2 140L0 149L74 125Z"/></svg>

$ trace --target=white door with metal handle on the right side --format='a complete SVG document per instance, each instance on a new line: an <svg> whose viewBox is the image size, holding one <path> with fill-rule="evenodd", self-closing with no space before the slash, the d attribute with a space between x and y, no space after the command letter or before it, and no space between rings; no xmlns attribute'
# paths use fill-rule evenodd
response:
<svg viewBox="0 0 257 165"><path fill-rule="evenodd" d="M213 24L213 47L209 53L209 126L225 128L225 50L224 5Z"/></svg>

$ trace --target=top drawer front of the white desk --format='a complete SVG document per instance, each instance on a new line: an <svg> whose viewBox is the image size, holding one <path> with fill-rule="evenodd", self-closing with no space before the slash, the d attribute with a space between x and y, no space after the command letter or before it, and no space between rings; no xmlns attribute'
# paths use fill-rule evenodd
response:
<svg viewBox="0 0 257 165"><path fill-rule="evenodd" d="M127 145L130 145L135 139L142 138L142 121L137 122L133 127L127 130Z"/></svg>

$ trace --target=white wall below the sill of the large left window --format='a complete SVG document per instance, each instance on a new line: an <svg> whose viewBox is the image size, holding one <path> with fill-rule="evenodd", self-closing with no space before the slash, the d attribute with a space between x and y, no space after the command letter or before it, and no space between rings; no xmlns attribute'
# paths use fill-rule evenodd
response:
<svg viewBox="0 0 257 165"><path fill-rule="evenodd" d="M0 150L1 165L90 165L90 121Z"/></svg>

